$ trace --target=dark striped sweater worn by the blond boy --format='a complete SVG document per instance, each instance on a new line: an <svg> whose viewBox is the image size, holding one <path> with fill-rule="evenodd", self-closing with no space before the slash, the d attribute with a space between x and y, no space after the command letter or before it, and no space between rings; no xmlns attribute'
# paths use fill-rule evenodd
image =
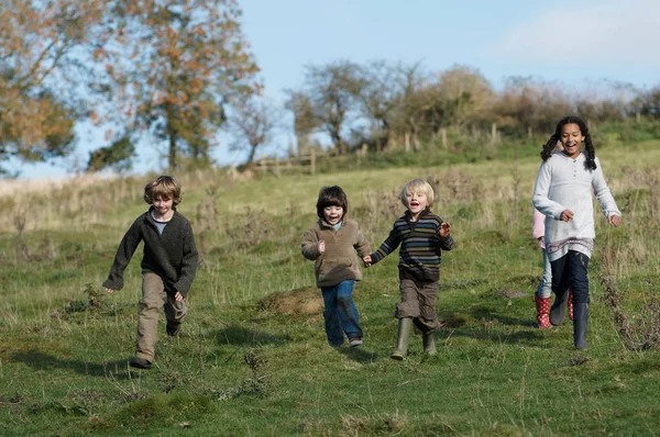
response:
<svg viewBox="0 0 660 437"><path fill-rule="evenodd" d="M454 246L451 235L439 235L441 224L442 218L429 209L422 211L416 222L410 221L410 212L406 211L394 222L389 236L378 250L371 254L372 264L381 261L400 244L399 278L437 282L440 279L441 250L451 250Z"/></svg>

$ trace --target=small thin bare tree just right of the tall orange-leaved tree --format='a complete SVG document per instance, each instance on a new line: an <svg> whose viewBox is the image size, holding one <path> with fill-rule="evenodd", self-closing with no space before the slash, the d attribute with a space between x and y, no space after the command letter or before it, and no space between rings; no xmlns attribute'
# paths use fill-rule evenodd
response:
<svg viewBox="0 0 660 437"><path fill-rule="evenodd" d="M250 168L254 164L256 150L273 139L275 127L278 125L278 114L263 99L244 99L234 104L229 125L235 138L231 148L233 150L248 148L245 167Z"/></svg>

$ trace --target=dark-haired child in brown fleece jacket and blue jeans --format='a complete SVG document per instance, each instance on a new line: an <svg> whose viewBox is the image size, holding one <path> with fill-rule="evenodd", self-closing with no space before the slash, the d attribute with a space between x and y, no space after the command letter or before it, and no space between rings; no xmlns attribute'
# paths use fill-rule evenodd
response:
<svg viewBox="0 0 660 437"><path fill-rule="evenodd" d="M343 345L344 335L351 347L362 345L360 316L353 302L355 281L362 280L355 250L361 258L371 251L358 223L345 217L348 211L345 192L337 186L323 187L317 202L319 220L305 232L301 244L305 258L316 261L317 287L326 305L326 334L336 347Z"/></svg>

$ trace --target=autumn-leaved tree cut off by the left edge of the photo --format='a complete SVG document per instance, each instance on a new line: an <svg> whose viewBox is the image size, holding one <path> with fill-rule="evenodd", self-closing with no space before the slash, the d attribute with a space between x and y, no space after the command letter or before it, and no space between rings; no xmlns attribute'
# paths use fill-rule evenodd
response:
<svg viewBox="0 0 660 437"><path fill-rule="evenodd" d="M0 8L0 161L47 161L75 145L86 115L75 83L98 1L4 0Z"/></svg>

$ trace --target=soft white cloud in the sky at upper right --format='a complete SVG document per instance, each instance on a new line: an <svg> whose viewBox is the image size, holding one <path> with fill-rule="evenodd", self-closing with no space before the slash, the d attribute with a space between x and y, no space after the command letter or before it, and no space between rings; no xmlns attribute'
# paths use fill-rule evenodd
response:
<svg viewBox="0 0 660 437"><path fill-rule="evenodd" d="M514 24L486 51L506 61L566 68L660 67L660 1L562 2Z"/></svg>

